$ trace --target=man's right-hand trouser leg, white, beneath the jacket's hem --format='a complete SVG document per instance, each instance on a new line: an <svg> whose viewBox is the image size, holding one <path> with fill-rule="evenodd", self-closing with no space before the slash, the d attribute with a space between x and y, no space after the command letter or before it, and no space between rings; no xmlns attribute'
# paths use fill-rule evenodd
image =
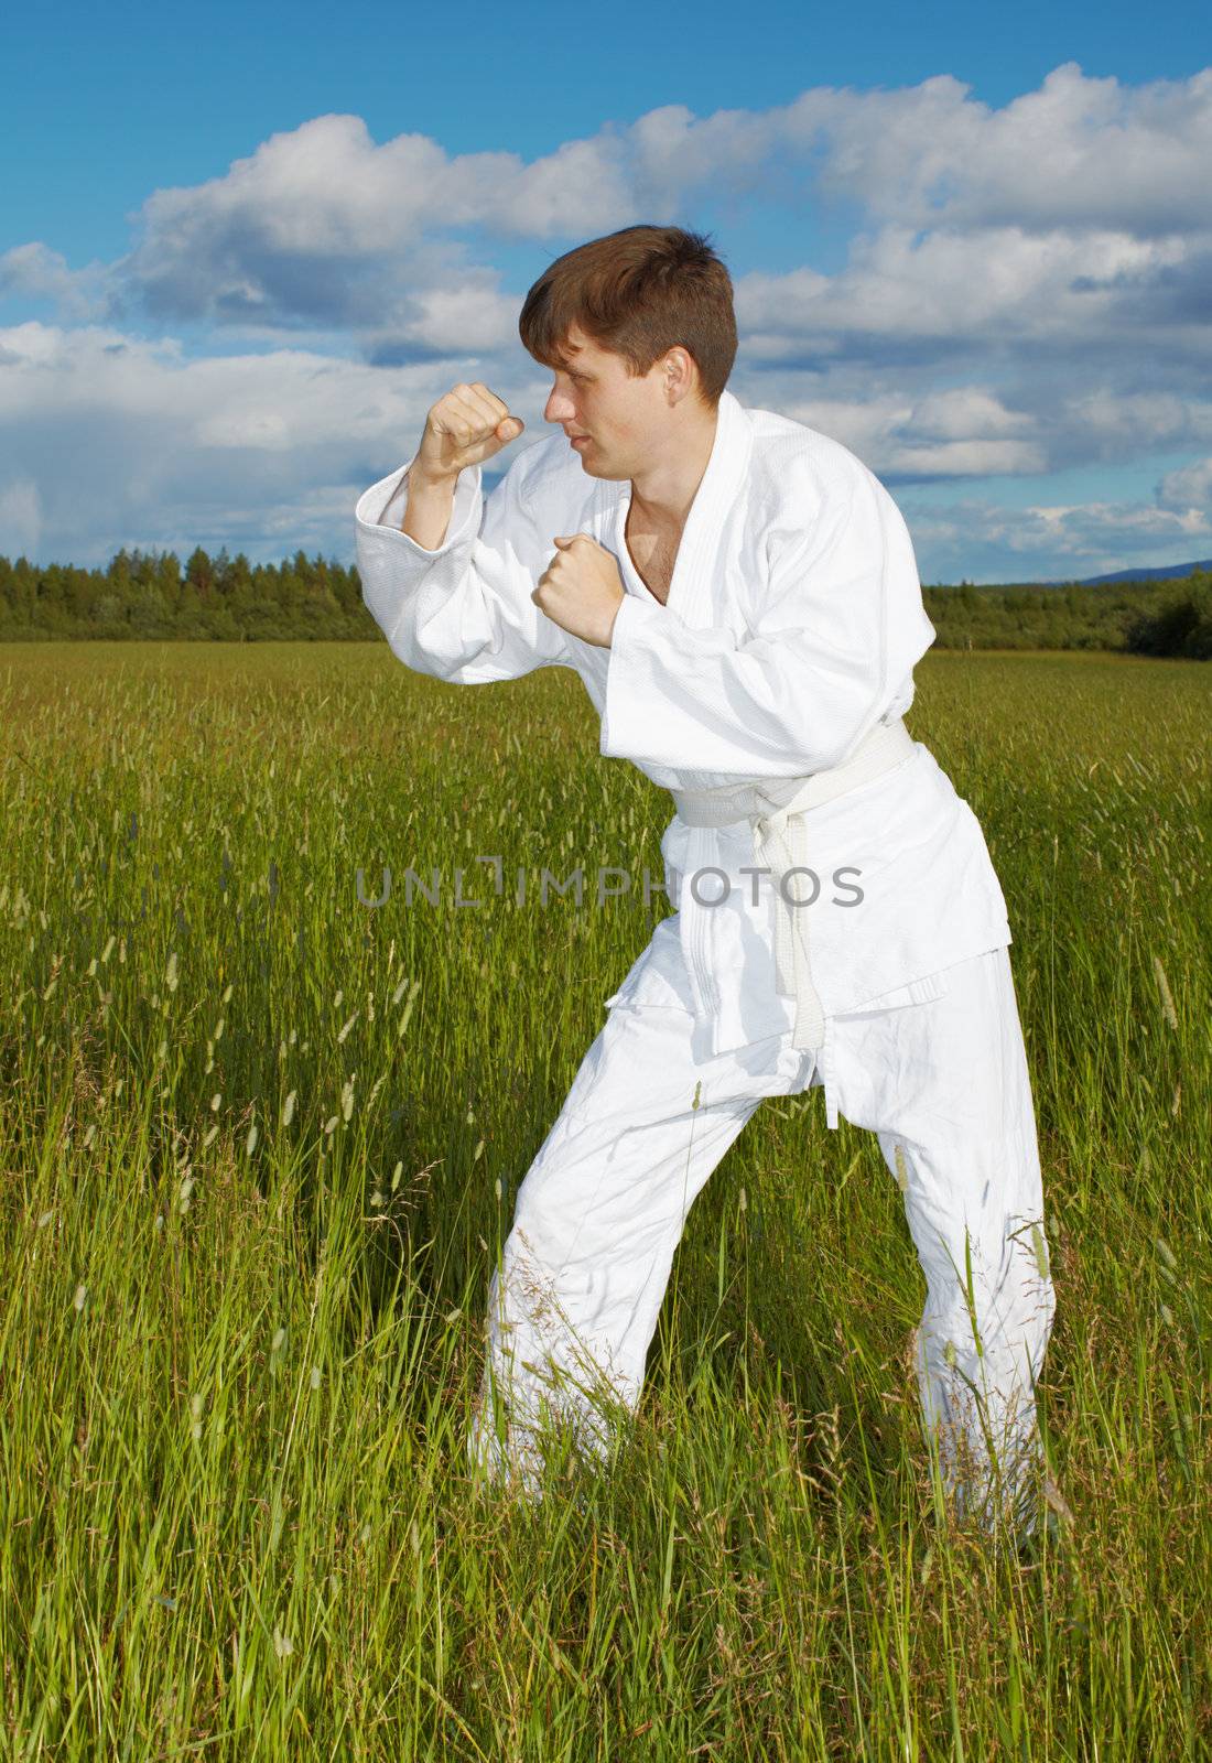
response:
<svg viewBox="0 0 1212 1763"><path fill-rule="evenodd" d="M927 1433L957 1513L1034 1529L1036 1379L1055 1312L1043 1178L1009 950L946 971L948 991L837 1017L923 1273L916 1359ZM849 1114L849 1111L847 1111ZM849 1116L853 1118L853 1116Z"/></svg>

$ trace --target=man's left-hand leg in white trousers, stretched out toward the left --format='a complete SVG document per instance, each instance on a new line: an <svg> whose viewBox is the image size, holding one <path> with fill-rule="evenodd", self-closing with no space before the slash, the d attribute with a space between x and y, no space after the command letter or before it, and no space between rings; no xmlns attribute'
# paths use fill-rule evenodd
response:
<svg viewBox="0 0 1212 1763"><path fill-rule="evenodd" d="M687 1010L613 1008L518 1190L467 1449L536 1497L548 1421L604 1454L638 1405L691 1202L761 1097L803 1082L787 1037L696 1063L691 1030Z"/></svg>

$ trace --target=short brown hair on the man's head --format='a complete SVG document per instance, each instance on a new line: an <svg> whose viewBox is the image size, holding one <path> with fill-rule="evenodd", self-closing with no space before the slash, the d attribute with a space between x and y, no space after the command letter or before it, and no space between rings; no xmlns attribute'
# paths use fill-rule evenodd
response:
<svg viewBox="0 0 1212 1763"><path fill-rule="evenodd" d="M706 236L676 226L625 226L548 264L523 301L521 344L544 367L567 367L573 324L624 356L632 376L682 344L710 409L736 360L731 277Z"/></svg>

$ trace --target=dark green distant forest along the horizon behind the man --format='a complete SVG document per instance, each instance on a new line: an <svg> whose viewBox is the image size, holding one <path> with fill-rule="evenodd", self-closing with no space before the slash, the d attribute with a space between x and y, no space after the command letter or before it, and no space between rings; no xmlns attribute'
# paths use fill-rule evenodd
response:
<svg viewBox="0 0 1212 1763"><path fill-rule="evenodd" d="M1212 575L1106 582L1097 587L925 587L935 649L1106 649L1212 658ZM48 638L146 642L366 642L366 612L352 564L305 557L252 564L238 552L210 557L120 550L100 569L39 566L0 557L0 642Z"/></svg>

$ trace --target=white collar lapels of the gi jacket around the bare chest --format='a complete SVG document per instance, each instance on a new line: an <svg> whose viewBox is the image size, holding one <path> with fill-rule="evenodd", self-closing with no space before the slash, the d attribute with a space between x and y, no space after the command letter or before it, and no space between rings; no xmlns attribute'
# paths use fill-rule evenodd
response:
<svg viewBox="0 0 1212 1763"><path fill-rule="evenodd" d="M666 599L669 612L676 612L685 624L694 628L719 622L712 601L712 584L719 580L719 541L728 513L749 474L750 451L749 411L726 388L719 400L712 455L685 517ZM615 552L627 592L652 599L654 596L639 580L627 554L629 508L631 481L615 483L601 478L595 513L602 543Z"/></svg>

